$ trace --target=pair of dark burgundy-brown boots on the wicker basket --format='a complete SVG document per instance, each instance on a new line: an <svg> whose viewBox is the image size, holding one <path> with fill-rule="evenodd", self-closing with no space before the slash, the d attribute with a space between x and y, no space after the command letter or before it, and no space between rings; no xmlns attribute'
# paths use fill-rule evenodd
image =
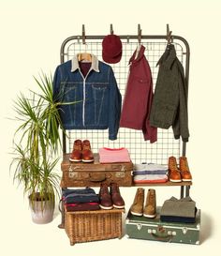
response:
<svg viewBox="0 0 221 256"><path fill-rule="evenodd" d="M125 201L121 196L120 189L116 183L111 183L110 192L108 185L102 183L99 191L100 208L111 210L112 207L118 209L125 208Z"/></svg>

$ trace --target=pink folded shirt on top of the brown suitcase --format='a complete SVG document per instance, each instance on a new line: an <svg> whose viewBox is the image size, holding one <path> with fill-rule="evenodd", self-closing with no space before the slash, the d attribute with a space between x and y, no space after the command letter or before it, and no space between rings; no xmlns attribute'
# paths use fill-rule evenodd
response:
<svg viewBox="0 0 221 256"><path fill-rule="evenodd" d="M108 148L102 147L99 149L99 161L101 163L111 162L130 162L129 152L125 147Z"/></svg>

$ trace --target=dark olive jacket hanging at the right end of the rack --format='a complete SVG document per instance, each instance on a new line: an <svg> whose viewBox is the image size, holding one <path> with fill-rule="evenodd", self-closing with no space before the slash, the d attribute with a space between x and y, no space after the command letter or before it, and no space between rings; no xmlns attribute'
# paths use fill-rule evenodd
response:
<svg viewBox="0 0 221 256"><path fill-rule="evenodd" d="M172 126L174 138L188 142L187 86L184 68L170 44L159 59L155 95L150 114L150 125L155 128Z"/></svg>

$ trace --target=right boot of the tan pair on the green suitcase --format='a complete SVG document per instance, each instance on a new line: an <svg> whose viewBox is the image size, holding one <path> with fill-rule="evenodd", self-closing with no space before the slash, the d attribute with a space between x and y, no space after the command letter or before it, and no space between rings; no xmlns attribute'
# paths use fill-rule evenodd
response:
<svg viewBox="0 0 221 256"><path fill-rule="evenodd" d="M156 216L155 189L148 189L143 216L147 218L155 218Z"/></svg>

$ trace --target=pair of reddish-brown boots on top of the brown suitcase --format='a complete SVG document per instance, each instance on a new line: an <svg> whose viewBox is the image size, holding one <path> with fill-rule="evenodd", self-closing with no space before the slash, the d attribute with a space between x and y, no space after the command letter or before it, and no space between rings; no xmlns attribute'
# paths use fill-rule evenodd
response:
<svg viewBox="0 0 221 256"><path fill-rule="evenodd" d="M93 162L94 155L91 150L90 142L88 140L76 140L69 160L72 162Z"/></svg>

